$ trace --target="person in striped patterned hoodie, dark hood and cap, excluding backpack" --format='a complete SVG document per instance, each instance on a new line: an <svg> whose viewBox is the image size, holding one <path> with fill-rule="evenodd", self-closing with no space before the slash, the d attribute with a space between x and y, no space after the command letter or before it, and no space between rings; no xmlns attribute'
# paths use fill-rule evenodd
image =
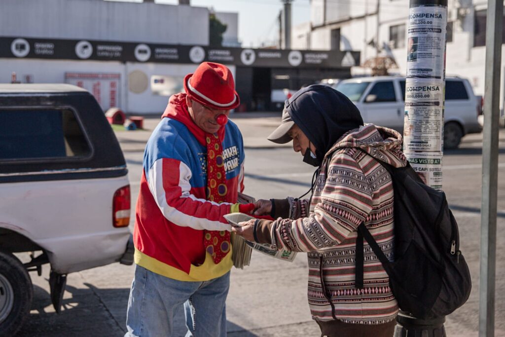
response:
<svg viewBox="0 0 505 337"><path fill-rule="evenodd" d="M312 196L259 200L255 214L277 220L250 220L232 230L278 250L307 252L309 306L322 335L392 336L398 306L388 275L366 242L363 284L355 261L362 223L394 259L392 182L378 160L407 164L401 135L364 124L341 92L311 85L286 101L281 124L268 139L292 140L304 162L318 167Z"/></svg>

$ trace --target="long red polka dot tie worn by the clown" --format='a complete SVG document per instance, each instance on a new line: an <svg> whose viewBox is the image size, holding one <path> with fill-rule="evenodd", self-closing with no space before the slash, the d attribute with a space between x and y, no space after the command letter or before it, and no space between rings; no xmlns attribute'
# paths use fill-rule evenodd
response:
<svg viewBox="0 0 505 337"><path fill-rule="evenodd" d="M217 133L207 134L207 200L222 203L226 201L226 172L224 170L223 147ZM206 230L204 234L206 251L218 264L230 252L230 232L226 230Z"/></svg>

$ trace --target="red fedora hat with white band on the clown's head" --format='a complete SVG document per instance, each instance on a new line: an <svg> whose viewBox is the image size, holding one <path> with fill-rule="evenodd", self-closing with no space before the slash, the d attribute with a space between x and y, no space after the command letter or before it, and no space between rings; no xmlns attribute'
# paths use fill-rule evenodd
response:
<svg viewBox="0 0 505 337"><path fill-rule="evenodd" d="M184 78L189 98L216 110L235 109L240 99L230 69L219 63L203 62Z"/></svg>

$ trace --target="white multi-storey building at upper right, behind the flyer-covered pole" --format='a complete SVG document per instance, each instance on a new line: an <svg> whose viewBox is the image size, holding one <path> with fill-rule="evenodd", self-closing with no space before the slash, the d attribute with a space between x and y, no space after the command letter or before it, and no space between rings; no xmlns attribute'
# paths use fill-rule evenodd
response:
<svg viewBox="0 0 505 337"><path fill-rule="evenodd" d="M468 78L477 95L484 94L486 9L485 0L448 0L446 74ZM378 41L396 60L399 69L393 72L405 75L408 14L409 0L312 0L310 28L304 34L295 27L292 43L299 49L360 51L363 64L376 56ZM502 49L502 81L504 61ZM369 72L361 67L351 71ZM500 92L503 105L503 82Z"/></svg>

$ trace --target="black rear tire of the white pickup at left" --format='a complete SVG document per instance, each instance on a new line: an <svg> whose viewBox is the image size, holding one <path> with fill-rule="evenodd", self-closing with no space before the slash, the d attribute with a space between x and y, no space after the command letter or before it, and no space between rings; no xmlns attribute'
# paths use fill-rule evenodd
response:
<svg viewBox="0 0 505 337"><path fill-rule="evenodd" d="M13 336L28 317L33 286L14 255L0 252L0 336Z"/></svg>

